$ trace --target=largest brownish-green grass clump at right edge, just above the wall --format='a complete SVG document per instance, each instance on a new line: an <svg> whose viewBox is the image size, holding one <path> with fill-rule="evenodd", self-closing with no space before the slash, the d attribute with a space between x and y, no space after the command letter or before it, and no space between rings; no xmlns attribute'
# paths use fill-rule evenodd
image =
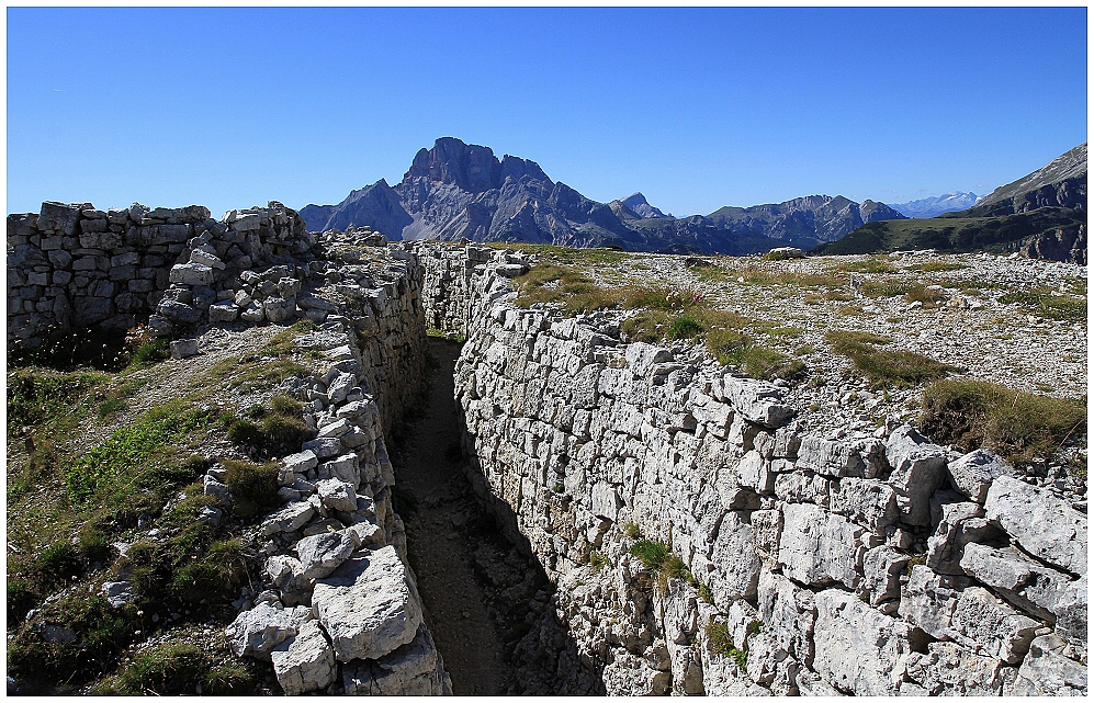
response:
<svg viewBox="0 0 1094 703"><path fill-rule="evenodd" d="M939 381L923 390L920 429L963 451L984 447L1012 464L1048 458L1086 433L1086 402L984 381Z"/></svg>

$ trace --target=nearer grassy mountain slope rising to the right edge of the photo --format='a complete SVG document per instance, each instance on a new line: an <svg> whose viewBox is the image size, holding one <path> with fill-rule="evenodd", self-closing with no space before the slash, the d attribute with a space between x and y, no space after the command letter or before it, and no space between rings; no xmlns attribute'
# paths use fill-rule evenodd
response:
<svg viewBox="0 0 1094 703"><path fill-rule="evenodd" d="M815 253L909 249L1020 251L1086 264L1086 144L995 189L978 204L928 219L866 224Z"/></svg>

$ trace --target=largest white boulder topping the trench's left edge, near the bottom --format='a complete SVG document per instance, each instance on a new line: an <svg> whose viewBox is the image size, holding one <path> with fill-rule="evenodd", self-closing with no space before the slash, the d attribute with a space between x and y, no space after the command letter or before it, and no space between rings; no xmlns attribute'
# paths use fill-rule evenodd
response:
<svg viewBox="0 0 1094 703"><path fill-rule="evenodd" d="M312 604L339 661L382 657L421 624L417 591L391 546L363 549L317 581Z"/></svg>

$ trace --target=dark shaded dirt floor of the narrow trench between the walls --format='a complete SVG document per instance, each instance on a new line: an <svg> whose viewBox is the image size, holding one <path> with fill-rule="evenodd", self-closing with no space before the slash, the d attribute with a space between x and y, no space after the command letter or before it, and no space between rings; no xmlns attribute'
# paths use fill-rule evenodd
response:
<svg viewBox="0 0 1094 703"><path fill-rule="evenodd" d="M407 531L410 566L426 622L456 695L553 692L568 660L553 615L553 586L533 559L503 536L464 474L453 400L460 345L429 339L428 394L395 442L395 509ZM562 639L538 644L546 631ZM548 690L544 690L548 689Z"/></svg>

